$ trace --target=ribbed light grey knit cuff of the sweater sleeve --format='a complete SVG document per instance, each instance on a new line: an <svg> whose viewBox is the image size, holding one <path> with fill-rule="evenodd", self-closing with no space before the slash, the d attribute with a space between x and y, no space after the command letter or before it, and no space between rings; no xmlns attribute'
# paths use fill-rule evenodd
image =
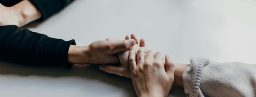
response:
<svg viewBox="0 0 256 97"><path fill-rule="evenodd" d="M191 57L190 63L183 75L184 91L189 97L204 97L199 88L201 82L201 75L204 66L209 64L210 60L204 57Z"/></svg>

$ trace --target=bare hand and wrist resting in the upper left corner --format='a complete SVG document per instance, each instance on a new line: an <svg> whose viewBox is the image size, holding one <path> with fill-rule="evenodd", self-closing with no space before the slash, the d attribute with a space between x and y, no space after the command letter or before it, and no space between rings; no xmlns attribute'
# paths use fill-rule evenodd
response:
<svg viewBox="0 0 256 97"><path fill-rule="evenodd" d="M0 13L0 26L17 25L21 27L42 16L40 11L28 0L23 0L12 7L0 4Z"/></svg>

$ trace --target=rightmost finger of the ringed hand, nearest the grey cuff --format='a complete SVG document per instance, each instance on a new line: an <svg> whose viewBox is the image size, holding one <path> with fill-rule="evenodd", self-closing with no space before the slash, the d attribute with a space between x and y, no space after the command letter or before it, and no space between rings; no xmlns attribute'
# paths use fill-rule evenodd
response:
<svg viewBox="0 0 256 97"><path fill-rule="evenodd" d="M165 55L165 64L166 64L166 73L168 76L173 77L174 76L174 71L175 71L175 65L171 61L170 56L167 54Z"/></svg>

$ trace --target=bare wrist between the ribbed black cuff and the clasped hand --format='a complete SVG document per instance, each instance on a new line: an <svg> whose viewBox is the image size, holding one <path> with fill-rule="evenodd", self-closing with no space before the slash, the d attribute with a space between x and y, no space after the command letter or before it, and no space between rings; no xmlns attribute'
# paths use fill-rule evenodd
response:
<svg viewBox="0 0 256 97"><path fill-rule="evenodd" d="M70 45L68 62L73 64L88 64L88 46Z"/></svg>

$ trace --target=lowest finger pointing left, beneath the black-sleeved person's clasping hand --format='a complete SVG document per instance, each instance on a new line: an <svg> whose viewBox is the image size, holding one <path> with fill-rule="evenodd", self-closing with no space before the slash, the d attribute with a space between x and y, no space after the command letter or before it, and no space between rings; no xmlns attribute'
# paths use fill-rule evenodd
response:
<svg viewBox="0 0 256 97"><path fill-rule="evenodd" d="M105 71L107 73L113 73L119 75L120 67L119 66L113 66L113 65L101 65L100 70ZM119 75L120 76L120 75Z"/></svg>

